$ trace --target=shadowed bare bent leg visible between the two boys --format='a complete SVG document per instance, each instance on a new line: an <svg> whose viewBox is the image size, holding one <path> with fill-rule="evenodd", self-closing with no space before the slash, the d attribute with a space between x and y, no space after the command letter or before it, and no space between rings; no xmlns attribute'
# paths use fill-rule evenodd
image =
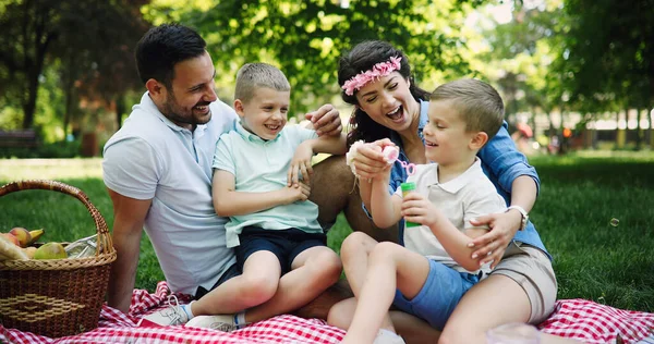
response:
<svg viewBox="0 0 654 344"><path fill-rule="evenodd" d="M377 242L398 242L398 229L379 229L363 212L359 186L346 164L344 156L331 156L314 165L311 196L318 206L318 222L323 226L334 224L342 211L353 231L368 234Z"/></svg>

